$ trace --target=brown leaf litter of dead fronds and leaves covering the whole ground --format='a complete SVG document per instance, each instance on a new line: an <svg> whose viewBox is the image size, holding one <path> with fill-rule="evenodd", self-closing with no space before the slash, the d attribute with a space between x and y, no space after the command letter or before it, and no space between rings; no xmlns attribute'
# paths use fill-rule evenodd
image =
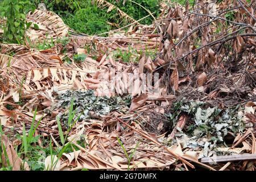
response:
<svg viewBox="0 0 256 182"><path fill-rule="evenodd" d="M114 8L106 1L98 6ZM53 160L45 157L46 168L54 170L255 170L255 159L229 162L256 152L255 6L162 3L162 14L150 26L119 11L130 20L129 30L108 37L77 34L51 11L28 13L27 20L38 24L27 31L31 41L51 38L55 46L1 43L1 167L9 162L13 170L30 169L14 146L22 145L34 117L36 144L51 138L53 150L62 142L72 146ZM130 47L137 61L115 57L117 49ZM142 73L152 75L145 79ZM106 89L112 82L102 79L113 74L114 93ZM159 80L145 89L157 74ZM204 162L221 156L224 162Z"/></svg>

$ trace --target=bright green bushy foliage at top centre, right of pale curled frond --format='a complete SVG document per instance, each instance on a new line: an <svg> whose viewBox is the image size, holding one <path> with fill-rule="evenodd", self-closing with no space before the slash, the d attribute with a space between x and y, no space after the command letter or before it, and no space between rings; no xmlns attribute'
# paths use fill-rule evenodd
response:
<svg viewBox="0 0 256 182"><path fill-rule="evenodd" d="M125 3L123 0L106 1L119 7L119 9L136 20L148 15L148 12L139 5L142 5L144 8L151 11L154 16L157 17L159 15L159 0L134 0L139 3L139 5L136 5L129 0L126 0ZM60 15L69 27L77 32L82 32L88 35L100 34L117 28L110 26L108 22L118 24L119 27L125 26L128 23L125 19L119 17L117 9L113 9L109 13L106 13L108 10L107 7L105 9L97 7L96 0L33 0L32 2L34 7L37 7L38 3L44 2L47 9ZM153 18L149 16L146 19L143 19L141 23L151 24L152 21Z"/></svg>

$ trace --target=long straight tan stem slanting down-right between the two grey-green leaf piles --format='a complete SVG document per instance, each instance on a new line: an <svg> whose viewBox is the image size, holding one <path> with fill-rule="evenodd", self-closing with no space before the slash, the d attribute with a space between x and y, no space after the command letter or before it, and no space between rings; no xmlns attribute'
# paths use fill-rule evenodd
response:
<svg viewBox="0 0 256 182"><path fill-rule="evenodd" d="M143 131L134 129L134 127L131 127L130 125L128 125L127 123L123 122L121 119L115 117L119 122L125 124L126 126L130 127L130 129L133 129L134 131L136 131L137 133L141 134L143 137L151 140L152 142L158 144L159 146L162 146L162 144L160 144L159 142L157 142L156 140L152 139L151 137L149 137L147 134L144 134ZM191 163L187 162L187 160L184 160L181 156L175 154L174 152L172 152L171 150L169 150L167 147L163 146L163 148L168 151L171 155L175 156L175 158L180 159L181 162L183 162L184 164L187 164L189 167L191 168L195 168Z"/></svg>

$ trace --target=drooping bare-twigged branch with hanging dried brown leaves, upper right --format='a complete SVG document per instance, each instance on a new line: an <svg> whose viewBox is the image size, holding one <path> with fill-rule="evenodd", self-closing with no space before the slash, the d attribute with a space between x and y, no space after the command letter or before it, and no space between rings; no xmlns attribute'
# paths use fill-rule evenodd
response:
<svg viewBox="0 0 256 182"><path fill-rule="evenodd" d="M223 67L226 60L241 59L238 55L255 46L256 30L251 23L255 22L253 9L238 2L240 6L229 1L220 4L200 2L190 11L184 11L180 6L170 7L160 36L162 51L159 59L164 64L156 70L175 64L179 71L186 67L185 74L188 74L212 66ZM174 78L177 80L179 76L170 70L173 68L168 69L168 82L174 88Z"/></svg>

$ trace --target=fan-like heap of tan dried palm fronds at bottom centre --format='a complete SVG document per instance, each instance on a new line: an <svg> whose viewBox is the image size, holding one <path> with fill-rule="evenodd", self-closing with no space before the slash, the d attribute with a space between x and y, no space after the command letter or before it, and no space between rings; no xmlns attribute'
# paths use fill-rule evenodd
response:
<svg viewBox="0 0 256 182"><path fill-rule="evenodd" d="M148 138L141 137L130 128L122 130L122 127L118 127L121 130L117 131L113 130L114 125L108 126L105 122L93 120L84 126L86 128L80 128L69 137L69 140L72 140L71 142L80 150L64 154L61 158L60 170L168 168L176 161L174 156L162 150L161 146L157 146ZM132 122L131 126L140 128L135 122ZM109 132L105 129L106 127L109 127ZM83 134L88 143L88 147L85 148L74 141ZM173 149L175 147L171 150ZM127 158L125 152L131 156L130 159Z"/></svg>

